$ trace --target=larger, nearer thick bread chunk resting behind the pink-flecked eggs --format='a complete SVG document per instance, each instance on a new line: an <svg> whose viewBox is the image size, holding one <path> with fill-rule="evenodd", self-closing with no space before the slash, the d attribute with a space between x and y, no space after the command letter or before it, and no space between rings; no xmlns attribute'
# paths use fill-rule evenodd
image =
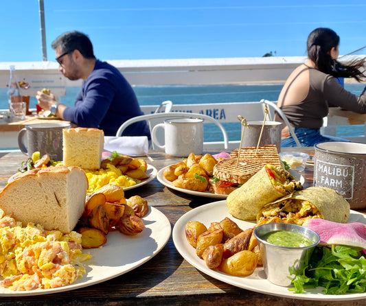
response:
<svg viewBox="0 0 366 306"><path fill-rule="evenodd" d="M33 169L12 180L0 193L0 208L21 221L69 233L84 211L88 179L79 167Z"/></svg>

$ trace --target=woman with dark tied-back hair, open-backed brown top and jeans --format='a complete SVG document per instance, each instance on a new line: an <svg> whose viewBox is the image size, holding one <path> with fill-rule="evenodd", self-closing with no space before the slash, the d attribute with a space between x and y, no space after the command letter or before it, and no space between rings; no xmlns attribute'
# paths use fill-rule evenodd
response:
<svg viewBox="0 0 366 306"><path fill-rule="evenodd" d="M366 113L366 91L360 96L343 89L337 78L366 79L366 58L341 63L339 36L319 27L308 36L308 60L291 73L278 97L277 105L290 121L301 145L312 146L324 141L344 141L320 134L328 107L340 106L356 113ZM282 121L275 116L276 121ZM282 147L296 146L287 126L282 130Z"/></svg>

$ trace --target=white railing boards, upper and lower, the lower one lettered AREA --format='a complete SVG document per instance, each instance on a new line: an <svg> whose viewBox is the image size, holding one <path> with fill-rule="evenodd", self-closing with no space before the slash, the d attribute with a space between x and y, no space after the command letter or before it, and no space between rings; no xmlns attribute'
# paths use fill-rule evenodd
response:
<svg viewBox="0 0 366 306"><path fill-rule="evenodd" d="M358 57L358 56L356 56ZM352 56L348 56L352 59ZM258 84L283 83L305 57L269 58L206 58L186 60L111 60L132 85L169 84ZM80 86L81 81L70 81L58 71L56 62L0 62L0 88L6 88L9 67L14 64L19 81L29 82L26 95L47 86L56 95L65 95L66 86ZM266 98L266 97L263 97ZM173 104L174 105L174 104ZM144 113L152 113L157 106L141 106ZM236 122L242 115L249 120L263 119L259 102L229 104L174 105L173 111L202 113L220 122ZM329 116L326 134L334 134L334 126L340 125L339 117ZM345 124L354 124L346 120ZM364 139L365 137L361 137ZM354 140L354 139L352 139ZM357 141L357 140L356 140ZM1 146L1 145L0 145Z"/></svg>

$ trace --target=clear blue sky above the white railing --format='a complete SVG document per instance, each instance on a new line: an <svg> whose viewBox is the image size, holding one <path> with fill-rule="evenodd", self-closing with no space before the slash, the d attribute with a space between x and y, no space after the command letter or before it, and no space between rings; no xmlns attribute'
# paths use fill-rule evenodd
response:
<svg viewBox="0 0 366 306"><path fill-rule="evenodd" d="M0 0L0 61L41 61L38 0ZM366 45L366 2L44 0L47 59L69 30L89 35L101 60L305 56L316 27L341 37L340 54Z"/></svg>

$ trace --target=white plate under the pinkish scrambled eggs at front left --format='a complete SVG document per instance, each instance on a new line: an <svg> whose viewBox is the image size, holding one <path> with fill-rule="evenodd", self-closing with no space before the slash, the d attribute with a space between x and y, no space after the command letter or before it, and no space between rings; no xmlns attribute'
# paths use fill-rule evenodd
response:
<svg viewBox="0 0 366 306"><path fill-rule="evenodd" d="M113 279L141 266L160 252L171 233L168 218L154 207L149 209L150 212L143 218L145 228L141 234L128 236L113 231L108 233L107 242L102 248L83 250L89 251L93 258L85 262L87 274L72 285L23 292L0 288L0 296L32 296L75 290Z"/></svg>

